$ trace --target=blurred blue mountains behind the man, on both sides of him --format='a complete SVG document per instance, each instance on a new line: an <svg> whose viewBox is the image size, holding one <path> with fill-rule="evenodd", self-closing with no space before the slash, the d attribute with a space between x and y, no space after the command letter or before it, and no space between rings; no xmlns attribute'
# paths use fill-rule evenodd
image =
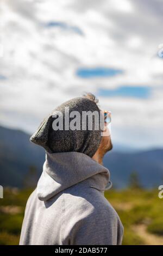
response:
<svg viewBox="0 0 163 256"><path fill-rule="evenodd" d="M0 185L22 187L31 166L37 169L39 179L45 151L29 141L30 135L20 130L0 126ZM114 147L104 157L104 166L110 170L115 187L128 186L131 173L136 172L144 187L163 183L163 149L122 151Z"/></svg>

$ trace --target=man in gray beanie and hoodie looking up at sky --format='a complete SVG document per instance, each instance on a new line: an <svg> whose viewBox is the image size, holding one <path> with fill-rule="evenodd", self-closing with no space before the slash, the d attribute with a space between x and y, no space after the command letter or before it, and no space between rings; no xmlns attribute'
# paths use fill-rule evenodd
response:
<svg viewBox="0 0 163 256"><path fill-rule="evenodd" d="M122 223L104 197L111 181L102 159L112 148L106 122L96 129L101 122L92 118L89 129L90 120L81 118L77 129L67 129L67 108L72 122L72 113L106 113L92 94L77 97L56 108L30 138L45 148L46 161L27 202L20 245L121 245ZM63 121L61 129L56 120Z"/></svg>

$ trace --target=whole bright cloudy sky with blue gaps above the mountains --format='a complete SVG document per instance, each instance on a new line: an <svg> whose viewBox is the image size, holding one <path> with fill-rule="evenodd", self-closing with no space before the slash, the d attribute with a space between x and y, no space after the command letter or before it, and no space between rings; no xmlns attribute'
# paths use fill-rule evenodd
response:
<svg viewBox="0 0 163 256"><path fill-rule="evenodd" d="M115 144L162 147L162 13L161 0L1 0L1 124L32 133L92 92Z"/></svg>

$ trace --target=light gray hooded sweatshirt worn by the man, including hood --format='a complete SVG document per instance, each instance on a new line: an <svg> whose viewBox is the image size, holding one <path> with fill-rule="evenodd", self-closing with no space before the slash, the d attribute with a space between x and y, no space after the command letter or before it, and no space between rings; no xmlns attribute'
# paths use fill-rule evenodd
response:
<svg viewBox="0 0 163 256"><path fill-rule="evenodd" d="M109 170L83 153L46 153L20 245L121 245L123 226L104 197Z"/></svg>

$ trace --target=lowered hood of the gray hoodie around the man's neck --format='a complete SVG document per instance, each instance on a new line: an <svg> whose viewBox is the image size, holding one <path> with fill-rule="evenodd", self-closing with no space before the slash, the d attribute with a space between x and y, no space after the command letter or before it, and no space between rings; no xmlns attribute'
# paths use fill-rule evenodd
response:
<svg viewBox="0 0 163 256"><path fill-rule="evenodd" d="M46 201L66 188L89 179L90 187L104 191L111 187L107 168L78 152L47 153L37 184L37 196Z"/></svg>

